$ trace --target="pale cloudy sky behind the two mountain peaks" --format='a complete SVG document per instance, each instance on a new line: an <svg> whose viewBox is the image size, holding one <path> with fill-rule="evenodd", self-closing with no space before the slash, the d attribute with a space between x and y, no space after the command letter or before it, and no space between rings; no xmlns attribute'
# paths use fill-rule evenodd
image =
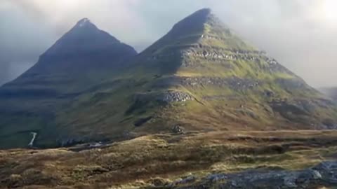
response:
<svg viewBox="0 0 337 189"><path fill-rule="evenodd" d="M337 85L336 0L0 0L0 84L81 18L139 52L200 8L309 84Z"/></svg>

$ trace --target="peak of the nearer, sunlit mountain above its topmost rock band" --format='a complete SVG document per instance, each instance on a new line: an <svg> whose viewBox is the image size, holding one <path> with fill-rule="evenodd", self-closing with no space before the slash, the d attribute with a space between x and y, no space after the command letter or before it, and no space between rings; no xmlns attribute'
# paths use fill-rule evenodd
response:
<svg viewBox="0 0 337 189"><path fill-rule="evenodd" d="M218 48L256 50L242 41L210 8L202 8L173 25L171 31L147 48L149 52L163 52L167 45L217 45Z"/></svg>

